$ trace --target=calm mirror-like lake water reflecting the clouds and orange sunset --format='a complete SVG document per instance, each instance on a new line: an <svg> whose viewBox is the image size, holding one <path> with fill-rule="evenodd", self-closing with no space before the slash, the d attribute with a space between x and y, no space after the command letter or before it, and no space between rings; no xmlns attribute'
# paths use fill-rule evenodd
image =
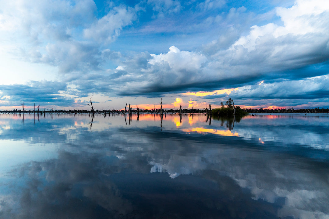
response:
<svg viewBox="0 0 329 219"><path fill-rule="evenodd" d="M329 218L329 114L0 114L0 218Z"/></svg>

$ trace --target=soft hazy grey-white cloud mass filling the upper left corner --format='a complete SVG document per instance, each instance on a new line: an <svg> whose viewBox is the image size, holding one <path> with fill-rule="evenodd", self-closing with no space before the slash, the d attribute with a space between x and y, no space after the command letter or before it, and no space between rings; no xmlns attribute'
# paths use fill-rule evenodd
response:
<svg viewBox="0 0 329 219"><path fill-rule="evenodd" d="M29 62L59 67L62 73L99 70L99 64L104 63L100 45L113 42L135 19L135 9L124 6L114 6L97 19L91 0L2 5L0 31L15 39L11 53Z"/></svg>

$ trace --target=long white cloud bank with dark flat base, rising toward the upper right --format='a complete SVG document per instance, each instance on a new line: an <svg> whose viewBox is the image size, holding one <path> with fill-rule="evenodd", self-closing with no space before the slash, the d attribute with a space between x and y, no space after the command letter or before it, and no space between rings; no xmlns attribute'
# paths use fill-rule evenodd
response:
<svg viewBox="0 0 329 219"><path fill-rule="evenodd" d="M127 83L125 88L135 88L141 95L154 92L172 92L184 89L216 89L239 87L266 79L282 77L302 79L326 74L318 68L303 68L324 63L329 58L327 28L329 12L320 2L312 2L313 8L305 12L310 1L297 1L286 15L277 9L284 25L269 23L253 26L246 36L240 37L230 48L214 55L202 52L181 51L172 46L168 53L151 54L149 65L129 71L130 78L147 80ZM291 22L308 19L306 29L296 32ZM325 63L323 65L326 65ZM138 84L138 86L137 86ZM275 93L267 92L268 96Z"/></svg>

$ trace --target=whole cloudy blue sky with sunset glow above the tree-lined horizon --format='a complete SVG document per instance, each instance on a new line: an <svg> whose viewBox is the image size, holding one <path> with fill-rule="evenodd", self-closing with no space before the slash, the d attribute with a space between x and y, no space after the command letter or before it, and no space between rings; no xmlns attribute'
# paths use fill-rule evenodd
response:
<svg viewBox="0 0 329 219"><path fill-rule="evenodd" d="M0 110L329 108L329 1L0 5Z"/></svg>

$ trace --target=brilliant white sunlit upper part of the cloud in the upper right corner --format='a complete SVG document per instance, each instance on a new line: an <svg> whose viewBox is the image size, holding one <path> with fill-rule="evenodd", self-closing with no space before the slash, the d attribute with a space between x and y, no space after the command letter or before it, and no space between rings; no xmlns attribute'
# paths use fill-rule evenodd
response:
<svg viewBox="0 0 329 219"><path fill-rule="evenodd" d="M307 34L318 34L320 37L328 39L329 2L299 0L289 9L278 7L276 12L284 26L273 23L261 27L252 26L249 35L240 37L232 45L231 50L234 50L237 45L247 48L248 52L255 50L257 46L266 46L266 43L272 45L275 42L276 45L282 45L284 40L278 39L278 37L290 38L293 36L292 38L303 44L314 43L313 39L309 37L310 35ZM303 42L306 40L305 38L309 38L309 40ZM293 39L289 40L292 41Z"/></svg>

